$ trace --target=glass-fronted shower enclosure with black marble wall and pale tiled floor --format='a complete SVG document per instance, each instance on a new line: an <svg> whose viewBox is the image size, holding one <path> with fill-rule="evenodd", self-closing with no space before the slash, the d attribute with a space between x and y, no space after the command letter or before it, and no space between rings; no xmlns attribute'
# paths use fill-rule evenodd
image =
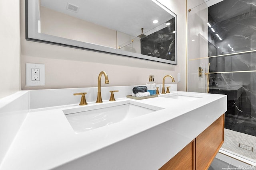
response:
<svg viewBox="0 0 256 170"><path fill-rule="evenodd" d="M191 8L187 66L189 92L228 96L222 150L256 162L256 0Z"/></svg>

